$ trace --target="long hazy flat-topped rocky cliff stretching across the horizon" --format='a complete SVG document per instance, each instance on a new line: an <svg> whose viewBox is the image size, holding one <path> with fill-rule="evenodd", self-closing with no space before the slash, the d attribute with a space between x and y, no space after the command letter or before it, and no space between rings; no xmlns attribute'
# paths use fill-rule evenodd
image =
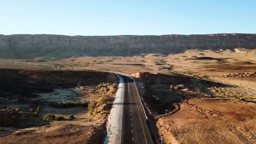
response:
<svg viewBox="0 0 256 144"><path fill-rule="evenodd" d="M0 58L133 56L190 49L256 49L256 34L66 36L0 35Z"/></svg>

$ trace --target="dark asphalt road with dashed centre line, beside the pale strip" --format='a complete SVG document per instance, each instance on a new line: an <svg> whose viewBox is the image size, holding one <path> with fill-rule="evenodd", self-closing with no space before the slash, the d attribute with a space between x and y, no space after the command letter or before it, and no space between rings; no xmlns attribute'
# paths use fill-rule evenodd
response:
<svg viewBox="0 0 256 144"><path fill-rule="evenodd" d="M125 79L121 143L154 143L133 79Z"/></svg>

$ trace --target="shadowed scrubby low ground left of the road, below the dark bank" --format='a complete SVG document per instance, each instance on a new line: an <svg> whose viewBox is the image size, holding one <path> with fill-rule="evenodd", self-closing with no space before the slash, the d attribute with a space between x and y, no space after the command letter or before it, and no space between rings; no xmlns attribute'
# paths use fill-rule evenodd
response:
<svg viewBox="0 0 256 144"><path fill-rule="evenodd" d="M102 142L117 83L95 71L0 69L1 143Z"/></svg>

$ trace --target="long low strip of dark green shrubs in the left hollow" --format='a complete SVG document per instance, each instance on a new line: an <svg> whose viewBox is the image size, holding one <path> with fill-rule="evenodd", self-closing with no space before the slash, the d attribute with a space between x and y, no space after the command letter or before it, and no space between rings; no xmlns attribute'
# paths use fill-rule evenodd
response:
<svg viewBox="0 0 256 144"><path fill-rule="evenodd" d="M65 101L65 102L57 102L57 103L50 103L50 106L59 107L59 108L69 108L69 107L87 107L88 101Z"/></svg>

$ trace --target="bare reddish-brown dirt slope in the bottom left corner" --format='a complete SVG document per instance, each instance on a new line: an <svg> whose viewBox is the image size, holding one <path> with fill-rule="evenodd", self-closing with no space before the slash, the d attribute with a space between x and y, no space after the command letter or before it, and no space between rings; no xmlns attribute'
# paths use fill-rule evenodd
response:
<svg viewBox="0 0 256 144"><path fill-rule="evenodd" d="M71 111L74 113L74 110ZM88 118L87 109L80 110L75 117L77 119L74 121L54 121L42 127L11 130L4 128L7 130L0 132L0 140L1 143L97 143L102 141L98 139L105 135L104 126L101 125L104 123L102 119L91 121ZM100 131L102 134L99 133Z"/></svg>

